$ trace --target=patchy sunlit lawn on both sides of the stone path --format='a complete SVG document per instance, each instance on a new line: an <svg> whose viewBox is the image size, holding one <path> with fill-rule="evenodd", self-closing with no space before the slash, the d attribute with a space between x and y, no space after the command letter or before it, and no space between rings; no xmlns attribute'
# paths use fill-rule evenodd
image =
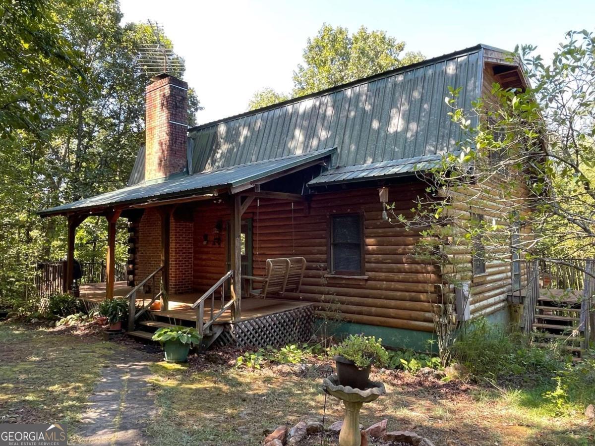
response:
<svg viewBox="0 0 595 446"><path fill-rule="evenodd" d="M101 367L125 348L131 347L0 324L0 416L8 422L76 424ZM330 363L308 358L313 365L265 364L250 370L233 368L235 357L209 353L190 366L151 366L158 414L149 423L150 444L261 445L265 429L323 414L327 426L342 419L342 404L325 400L320 388ZM544 400L541 384L520 380L515 387L497 388L406 372L372 378L384 382L387 395L364 405L366 426L387 418L390 430L415 431L446 446L595 444L594 424L580 408L557 413ZM320 438L307 446L314 444Z"/></svg>

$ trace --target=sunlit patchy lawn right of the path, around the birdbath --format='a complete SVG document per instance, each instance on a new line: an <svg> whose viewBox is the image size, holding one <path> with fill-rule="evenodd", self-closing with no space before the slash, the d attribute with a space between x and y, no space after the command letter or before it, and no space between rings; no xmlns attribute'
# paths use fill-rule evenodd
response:
<svg viewBox="0 0 595 446"><path fill-rule="evenodd" d="M327 399L325 409L322 378L312 368L305 374L283 365L261 370L214 365L196 371L156 363L153 370L161 420L151 428L156 445L258 445L265 429L321 419L323 413L328 426L343 416L334 398ZM364 425L387 418L389 429L415 431L440 445L586 446L595 441L584 417L529 407L532 391L424 381L405 372L374 378L385 383L387 395L364 405Z"/></svg>

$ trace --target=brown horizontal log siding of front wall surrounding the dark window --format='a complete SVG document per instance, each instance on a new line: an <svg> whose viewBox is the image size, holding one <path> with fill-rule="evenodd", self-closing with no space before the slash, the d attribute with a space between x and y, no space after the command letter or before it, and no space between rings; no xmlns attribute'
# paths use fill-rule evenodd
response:
<svg viewBox="0 0 595 446"><path fill-rule="evenodd" d="M424 189L421 181L390 187L389 202L397 213L409 213ZM377 189L314 194L309 211L302 202L293 203L293 212L290 202L257 203L243 216L253 219L254 275L265 274L271 257L303 256L308 262L300 293L285 293L283 299L316 303L322 314L346 321L433 331L439 269L411 255L418 233L382 220ZM330 215L352 212L364 215L367 280L328 277Z"/></svg>

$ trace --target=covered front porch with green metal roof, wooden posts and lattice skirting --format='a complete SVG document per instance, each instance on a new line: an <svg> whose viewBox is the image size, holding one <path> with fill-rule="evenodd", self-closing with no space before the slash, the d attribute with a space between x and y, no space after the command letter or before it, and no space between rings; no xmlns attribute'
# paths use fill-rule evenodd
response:
<svg viewBox="0 0 595 446"><path fill-rule="evenodd" d="M268 293L267 299L250 297L252 285L256 290L263 285L245 278L252 277L254 269L262 276L268 257L258 256L256 240L252 258L254 212L247 211L256 209L258 217L259 201L274 200L290 206L293 221L293 203L303 205L307 200L303 184L320 171L331 153L333 149L321 150L133 186L44 211L68 217L66 290L73 284L76 228L87 216L100 215L108 221L105 283L81 285L80 298L92 307L105 299L126 297L129 320L123 326L129 334L150 338L151 329L176 324L195 326L203 338L212 339L223 330L250 332L233 337L238 344L252 346L301 340L311 329L311 302L275 299L282 297L279 291L285 290L284 285ZM118 219L128 222L129 260L127 281L116 282ZM286 240L295 243L289 234ZM292 252L273 257L291 257ZM274 267L277 278L283 276L278 274L280 268ZM305 259L302 267L288 263L284 280L289 278L293 291L299 291L304 269ZM159 310L152 307L156 301L161 303Z"/></svg>

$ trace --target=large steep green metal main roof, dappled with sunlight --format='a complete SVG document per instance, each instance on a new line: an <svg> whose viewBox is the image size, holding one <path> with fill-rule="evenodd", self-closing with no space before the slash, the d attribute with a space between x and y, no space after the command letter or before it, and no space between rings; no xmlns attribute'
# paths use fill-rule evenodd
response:
<svg viewBox="0 0 595 446"><path fill-rule="evenodd" d="M189 133L192 165L223 168L337 147L336 167L346 168L456 150L462 131L447 115L444 98L449 86L462 87L459 105L465 108L480 97L486 48L195 127Z"/></svg>

